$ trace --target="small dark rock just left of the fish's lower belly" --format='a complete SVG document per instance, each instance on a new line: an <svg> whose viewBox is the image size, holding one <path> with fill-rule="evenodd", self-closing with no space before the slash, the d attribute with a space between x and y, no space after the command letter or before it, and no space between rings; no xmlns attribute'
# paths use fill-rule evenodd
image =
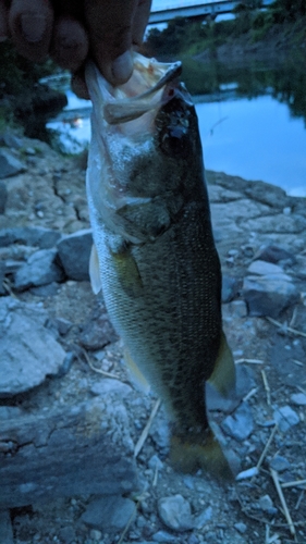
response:
<svg viewBox="0 0 306 544"><path fill-rule="evenodd" d="M111 342L115 342L118 336L109 320L105 306L96 308L83 325L79 335L79 343L86 349L101 349Z"/></svg>

